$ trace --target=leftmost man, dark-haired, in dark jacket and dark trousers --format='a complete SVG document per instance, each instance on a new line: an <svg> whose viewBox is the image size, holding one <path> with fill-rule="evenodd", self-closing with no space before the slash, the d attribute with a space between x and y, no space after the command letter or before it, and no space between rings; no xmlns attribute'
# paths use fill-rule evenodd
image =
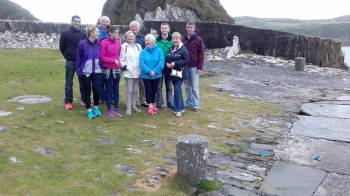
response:
<svg viewBox="0 0 350 196"><path fill-rule="evenodd" d="M80 28L81 19L79 16L73 16L71 20L71 27L64 31L60 37L60 51L66 59L66 84L65 84L65 107L66 110L73 108L73 77L75 72L75 58L78 44L81 40L86 38L85 32ZM80 95L82 93L80 85Z"/></svg>

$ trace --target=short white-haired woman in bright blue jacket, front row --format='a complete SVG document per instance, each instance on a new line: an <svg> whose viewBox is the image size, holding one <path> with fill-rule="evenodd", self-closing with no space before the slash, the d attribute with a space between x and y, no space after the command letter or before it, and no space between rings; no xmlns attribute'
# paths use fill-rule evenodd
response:
<svg viewBox="0 0 350 196"><path fill-rule="evenodd" d="M147 113L149 115L158 113L155 106L156 92L164 67L163 51L155 45L155 40L154 35L146 35L146 47L140 55L141 78L145 85L146 102L148 104Z"/></svg>

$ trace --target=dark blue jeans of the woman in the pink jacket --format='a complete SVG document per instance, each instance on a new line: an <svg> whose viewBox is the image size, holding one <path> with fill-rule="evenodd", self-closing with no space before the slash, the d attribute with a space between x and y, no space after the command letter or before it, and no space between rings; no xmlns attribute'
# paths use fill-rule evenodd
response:
<svg viewBox="0 0 350 196"><path fill-rule="evenodd" d="M106 105L107 109L111 109L111 104L113 100L114 108L119 108L119 81L120 81L120 73L113 77L113 73L109 75L109 78L106 81Z"/></svg>

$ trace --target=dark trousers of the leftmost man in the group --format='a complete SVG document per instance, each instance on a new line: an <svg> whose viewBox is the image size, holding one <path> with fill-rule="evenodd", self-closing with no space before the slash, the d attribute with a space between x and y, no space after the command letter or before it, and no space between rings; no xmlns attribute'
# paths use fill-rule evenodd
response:
<svg viewBox="0 0 350 196"><path fill-rule="evenodd" d="M73 102L73 78L75 73L75 61L66 61L66 83L64 86L64 103ZM83 88L79 80L80 98L83 100Z"/></svg>

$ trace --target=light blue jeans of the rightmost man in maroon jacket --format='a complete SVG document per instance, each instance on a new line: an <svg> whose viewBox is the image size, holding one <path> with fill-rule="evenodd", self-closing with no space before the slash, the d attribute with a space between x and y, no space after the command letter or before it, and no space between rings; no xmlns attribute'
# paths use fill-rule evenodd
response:
<svg viewBox="0 0 350 196"><path fill-rule="evenodd" d="M186 84L186 107L199 109L199 74L197 68L190 67L187 71Z"/></svg>

